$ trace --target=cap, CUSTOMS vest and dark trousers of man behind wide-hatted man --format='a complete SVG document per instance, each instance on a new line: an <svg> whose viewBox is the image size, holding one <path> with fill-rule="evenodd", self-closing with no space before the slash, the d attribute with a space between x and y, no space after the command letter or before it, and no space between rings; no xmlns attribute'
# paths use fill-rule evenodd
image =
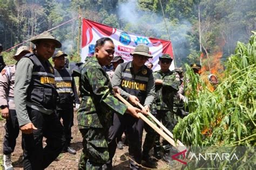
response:
<svg viewBox="0 0 256 170"><path fill-rule="evenodd" d="M66 56L62 51L58 51L58 53L52 57L52 59L56 57ZM64 133L66 137L66 144L64 146L64 151L70 147L71 141L71 127L73 125L73 103L75 100L76 104L80 104L79 99L76 99L77 96L75 79L72 77L71 70L63 67L62 69L54 68L55 73L55 86L58 92L57 98L57 115L59 119L63 119ZM75 150L70 149L72 154L75 154Z"/></svg>

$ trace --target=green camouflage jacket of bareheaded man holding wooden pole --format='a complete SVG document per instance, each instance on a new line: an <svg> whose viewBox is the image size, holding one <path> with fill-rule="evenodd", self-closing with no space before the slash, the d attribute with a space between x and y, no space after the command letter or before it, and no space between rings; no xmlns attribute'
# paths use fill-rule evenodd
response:
<svg viewBox="0 0 256 170"><path fill-rule="evenodd" d="M111 125L113 112L124 114L127 106L114 98L109 76L92 57L82 66L80 77L82 103L78 110L79 128L107 128Z"/></svg>

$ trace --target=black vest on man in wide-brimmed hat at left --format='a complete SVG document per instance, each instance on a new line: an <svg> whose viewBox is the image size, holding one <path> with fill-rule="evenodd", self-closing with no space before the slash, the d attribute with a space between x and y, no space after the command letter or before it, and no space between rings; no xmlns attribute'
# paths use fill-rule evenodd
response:
<svg viewBox="0 0 256 170"><path fill-rule="evenodd" d="M54 110L56 108L57 91L52 65L48 60L41 61L31 53L24 57L28 57L34 64L27 101L39 107Z"/></svg>

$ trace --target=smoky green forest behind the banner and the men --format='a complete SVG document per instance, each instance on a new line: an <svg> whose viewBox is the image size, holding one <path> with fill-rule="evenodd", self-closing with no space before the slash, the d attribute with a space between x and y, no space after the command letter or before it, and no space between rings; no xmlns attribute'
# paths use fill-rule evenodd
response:
<svg viewBox="0 0 256 170"><path fill-rule="evenodd" d="M127 32L171 38L176 66L200 63L201 56L207 71L224 62L237 42L247 42L256 30L254 0L0 0L0 43L6 50L77 18L51 33L62 42L61 50L78 61L79 13ZM14 63L8 57L14 52L4 53L6 64Z"/></svg>

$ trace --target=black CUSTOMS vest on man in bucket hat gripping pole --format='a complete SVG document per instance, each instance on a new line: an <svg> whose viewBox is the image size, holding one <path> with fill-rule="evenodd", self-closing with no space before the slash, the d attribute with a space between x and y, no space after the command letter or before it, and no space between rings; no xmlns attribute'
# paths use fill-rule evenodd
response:
<svg viewBox="0 0 256 170"><path fill-rule="evenodd" d="M152 71L144 65L137 74L134 74L132 73L133 71L130 70L131 64L132 62L120 64L122 68L122 81L120 86L127 93L136 96L143 105L147 96L147 83Z"/></svg>

